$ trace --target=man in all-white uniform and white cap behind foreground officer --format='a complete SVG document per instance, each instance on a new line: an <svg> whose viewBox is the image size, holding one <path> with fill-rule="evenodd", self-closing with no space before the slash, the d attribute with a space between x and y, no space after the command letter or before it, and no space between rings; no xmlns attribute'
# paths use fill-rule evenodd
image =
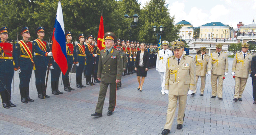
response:
<svg viewBox="0 0 256 135"><path fill-rule="evenodd" d="M157 53L157 63L156 63L156 71L159 72L160 80L161 80L161 92L162 95L165 93L168 94L168 90L165 90L165 72L166 72L166 63L167 59L172 56L172 52L168 50L169 42L162 42L163 49L158 51Z"/></svg>

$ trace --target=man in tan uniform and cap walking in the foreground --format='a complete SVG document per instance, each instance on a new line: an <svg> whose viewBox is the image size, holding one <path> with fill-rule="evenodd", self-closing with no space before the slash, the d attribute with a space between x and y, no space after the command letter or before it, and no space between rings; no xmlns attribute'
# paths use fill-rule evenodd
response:
<svg viewBox="0 0 256 135"><path fill-rule="evenodd" d="M168 58L165 76L165 89L169 90L169 104L163 135L170 133L174 114L179 100L177 129L182 129L185 117L187 93L195 86L195 64L192 57L183 54L184 43L171 42L174 56Z"/></svg>

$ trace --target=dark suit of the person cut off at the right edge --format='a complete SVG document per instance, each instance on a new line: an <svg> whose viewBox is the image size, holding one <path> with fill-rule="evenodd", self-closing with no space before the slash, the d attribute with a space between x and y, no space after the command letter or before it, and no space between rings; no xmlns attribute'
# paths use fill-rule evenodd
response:
<svg viewBox="0 0 256 135"><path fill-rule="evenodd" d="M252 88L253 88L253 100L255 101L256 100L256 57L254 56L252 58L252 62L251 62L251 70L252 70L252 74L251 74L251 77L252 77Z"/></svg>

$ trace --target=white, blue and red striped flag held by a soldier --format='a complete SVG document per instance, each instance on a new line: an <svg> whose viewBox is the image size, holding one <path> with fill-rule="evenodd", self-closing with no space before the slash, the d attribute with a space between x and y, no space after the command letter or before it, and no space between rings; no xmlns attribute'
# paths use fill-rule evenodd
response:
<svg viewBox="0 0 256 135"><path fill-rule="evenodd" d="M57 8L57 14L52 35L52 56L56 63L60 66L62 73L65 75L68 70L68 61L64 21L60 1Z"/></svg>

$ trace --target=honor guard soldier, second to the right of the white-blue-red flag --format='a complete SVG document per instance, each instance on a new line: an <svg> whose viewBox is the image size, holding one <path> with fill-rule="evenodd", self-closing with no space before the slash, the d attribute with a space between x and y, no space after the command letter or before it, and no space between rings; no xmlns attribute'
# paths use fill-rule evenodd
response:
<svg viewBox="0 0 256 135"><path fill-rule="evenodd" d="M76 67L76 87L82 88L86 87L82 84L82 74L85 67L86 62L86 54L85 54L85 37L84 34L78 35L79 43L76 44L74 48L74 62Z"/></svg>

